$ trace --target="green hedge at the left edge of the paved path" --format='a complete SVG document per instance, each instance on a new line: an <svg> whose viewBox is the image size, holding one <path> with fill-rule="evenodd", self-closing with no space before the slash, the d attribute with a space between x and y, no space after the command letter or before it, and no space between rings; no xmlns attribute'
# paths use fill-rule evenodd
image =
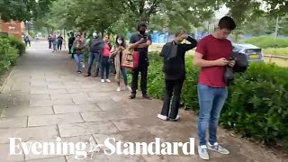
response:
<svg viewBox="0 0 288 162"><path fill-rule="evenodd" d="M0 39L0 72L14 66L16 58L25 52L25 44L14 37Z"/></svg>

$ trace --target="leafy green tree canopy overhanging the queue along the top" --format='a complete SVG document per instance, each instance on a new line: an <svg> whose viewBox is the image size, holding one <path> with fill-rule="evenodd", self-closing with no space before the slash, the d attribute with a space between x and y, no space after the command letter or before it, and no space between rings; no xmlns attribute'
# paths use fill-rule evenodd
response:
<svg viewBox="0 0 288 162"><path fill-rule="evenodd" d="M257 17L275 20L276 16L284 16L288 8L287 2L280 0L57 0L44 23L61 29L117 33L134 31L137 23L146 22L151 31L193 31L193 27L212 20L223 5L229 8L239 28L256 27L248 23ZM261 28L266 26L264 23Z"/></svg>

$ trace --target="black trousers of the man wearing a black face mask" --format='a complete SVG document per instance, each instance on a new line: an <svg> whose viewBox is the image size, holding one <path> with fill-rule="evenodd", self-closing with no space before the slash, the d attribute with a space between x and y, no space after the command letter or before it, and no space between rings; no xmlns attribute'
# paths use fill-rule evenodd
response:
<svg viewBox="0 0 288 162"><path fill-rule="evenodd" d="M133 70L132 72L132 94L136 94L138 89L138 78L139 73L141 74L141 91L142 94L147 94L147 76L148 76L148 66L140 66Z"/></svg>

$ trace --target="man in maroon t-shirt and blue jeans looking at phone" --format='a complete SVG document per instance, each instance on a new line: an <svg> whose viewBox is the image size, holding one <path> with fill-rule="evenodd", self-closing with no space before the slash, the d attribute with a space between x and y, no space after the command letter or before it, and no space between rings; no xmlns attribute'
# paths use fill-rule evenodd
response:
<svg viewBox="0 0 288 162"><path fill-rule="evenodd" d="M235 28L236 24L229 16L221 18L215 34L199 41L194 56L193 65L202 67L198 84L200 104L198 153L202 159L209 159L207 149L229 154L229 150L221 147L217 142L217 125L220 111L228 95L224 69L226 66L235 65L235 61L229 61L232 57L232 45L227 40L230 32ZM207 130L209 130L208 143L206 142Z"/></svg>

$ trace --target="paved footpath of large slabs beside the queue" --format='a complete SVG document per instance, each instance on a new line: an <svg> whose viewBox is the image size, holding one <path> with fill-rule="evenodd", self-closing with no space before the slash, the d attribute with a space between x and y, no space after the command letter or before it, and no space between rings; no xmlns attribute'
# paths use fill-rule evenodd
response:
<svg viewBox="0 0 288 162"><path fill-rule="evenodd" d="M126 142L187 142L196 138L196 116L181 112L181 121L160 121L157 113L161 101L130 101L129 92L116 92L114 83L100 83L99 78L76 74L74 61L66 51L52 53L46 42L33 42L32 47L14 67L0 96L3 111L0 118L0 162L200 162L197 155L123 156L94 153L93 160L76 160L73 156L8 155L9 139L51 142L93 142L103 144L106 138ZM0 109L1 110L1 109ZM244 139L230 137L219 130L221 144L230 155L211 152L215 162L277 162L274 154ZM196 141L197 143L197 141ZM103 148L107 149L107 148ZM195 153L197 149L195 149ZM196 153L197 154L197 153Z"/></svg>

